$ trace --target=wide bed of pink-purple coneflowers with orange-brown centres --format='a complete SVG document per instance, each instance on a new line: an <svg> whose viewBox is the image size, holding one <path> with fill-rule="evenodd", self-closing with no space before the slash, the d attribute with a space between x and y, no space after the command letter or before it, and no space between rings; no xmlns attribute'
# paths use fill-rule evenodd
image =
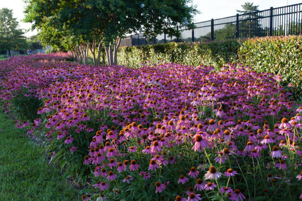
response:
<svg viewBox="0 0 302 201"><path fill-rule="evenodd" d="M280 75L228 64L0 61L0 98L83 200L297 200L302 107Z"/></svg>

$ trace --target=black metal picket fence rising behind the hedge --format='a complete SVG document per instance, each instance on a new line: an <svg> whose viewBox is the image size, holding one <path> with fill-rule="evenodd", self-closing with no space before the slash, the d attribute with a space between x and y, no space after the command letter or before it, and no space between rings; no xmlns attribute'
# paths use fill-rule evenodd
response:
<svg viewBox="0 0 302 201"><path fill-rule="evenodd" d="M202 42L235 38L302 34L302 3L236 16L195 23L194 29L175 27L181 37L166 34L148 41L143 33L127 36L121 46L147 45L168 42Z"/></svg>

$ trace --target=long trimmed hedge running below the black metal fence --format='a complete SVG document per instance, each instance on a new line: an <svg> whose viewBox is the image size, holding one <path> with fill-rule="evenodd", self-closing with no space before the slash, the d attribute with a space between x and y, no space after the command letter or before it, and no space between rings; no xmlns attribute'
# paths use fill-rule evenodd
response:
<svg viewBox="0 0 302 201"><path fill-rule="evenodd" d="M175 62L211 65L216 70L226 63L243 63L257 72L281 74L284 84L292 84L302 94L302 36L262 37L203 43L165 43L121 47L118 63L139 67L150 63Z"/></svg>

